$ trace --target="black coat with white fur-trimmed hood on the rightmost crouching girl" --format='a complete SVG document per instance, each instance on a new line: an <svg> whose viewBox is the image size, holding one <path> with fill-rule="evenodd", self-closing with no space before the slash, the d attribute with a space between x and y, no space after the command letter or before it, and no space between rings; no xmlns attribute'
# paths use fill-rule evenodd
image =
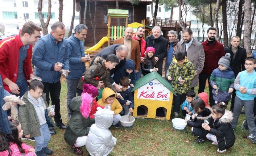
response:
<svg viewBox="0 0 256 156"><path fill-rule="evenodd" d="M235 143L235 134L230 124L232 120L233 114L229 110L226 110L221 118L215 121L213 119L211 120L210 127L212 128L210 129L210 134L216 136L220 150L230 148Z"/></svg>

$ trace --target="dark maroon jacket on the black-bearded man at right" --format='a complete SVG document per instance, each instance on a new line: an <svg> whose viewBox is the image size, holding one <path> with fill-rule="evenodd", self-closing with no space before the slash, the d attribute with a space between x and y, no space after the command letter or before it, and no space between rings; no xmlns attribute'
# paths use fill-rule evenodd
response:
<svg viewBox="0 0 256 156"><path fill-rule="evenodd" d="M205 64L201 73L211 75L212 71L218 68L219 59L225 55L223 44L216 41L211 45L208 39L202 43L205 51Z"/></svg>

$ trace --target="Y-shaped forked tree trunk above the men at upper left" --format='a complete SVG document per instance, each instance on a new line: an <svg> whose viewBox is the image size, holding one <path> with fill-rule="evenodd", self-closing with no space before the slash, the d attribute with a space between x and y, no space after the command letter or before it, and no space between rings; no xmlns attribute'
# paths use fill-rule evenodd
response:
<svg viewBox="0 0 256 156"><path fill-rule="evenodd" d="M38 1L37 10L38 10L39 20L40 20L40 23L42 25L43 33L44 33L44 35L47 35L48 34L48 29L47 28L48 28L50 18L51 18L51 0L48 0L48 14L47 14L46 22L44 21L44 18L42 16L42 0Z"/></svg>

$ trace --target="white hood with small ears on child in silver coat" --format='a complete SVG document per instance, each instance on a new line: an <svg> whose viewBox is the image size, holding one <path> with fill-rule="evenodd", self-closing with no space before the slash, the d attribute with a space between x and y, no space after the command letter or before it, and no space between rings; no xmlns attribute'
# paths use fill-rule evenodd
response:
<svg viewBox="0 0 256 156"><path fill-rule="evenodd" d="M110 128L110 126L113 124L113 114L115 114L115 112L112 110L98 107L94 118L96 126L103 129Z"/></svg>

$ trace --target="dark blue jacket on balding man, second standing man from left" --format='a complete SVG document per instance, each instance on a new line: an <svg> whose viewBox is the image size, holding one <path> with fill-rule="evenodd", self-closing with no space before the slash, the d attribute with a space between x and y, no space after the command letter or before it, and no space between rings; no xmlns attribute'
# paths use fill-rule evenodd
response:
<svg viewBox="0 0 256 156"><path fill-rule="evenodd" d="M34 46L32 64L35 66L34 75L40 77L43 82L57 83L61 79L61 73L54 71L54 64L60 62L62 69L69 70L69 46L67 40L55 43L51 35L41 37Z"/></svg>

